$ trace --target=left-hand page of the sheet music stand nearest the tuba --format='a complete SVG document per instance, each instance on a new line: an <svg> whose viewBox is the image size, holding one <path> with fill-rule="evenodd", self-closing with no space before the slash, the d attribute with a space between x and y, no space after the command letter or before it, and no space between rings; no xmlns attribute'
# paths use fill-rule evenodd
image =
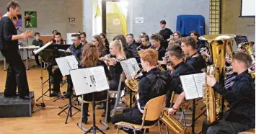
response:
<svg viewBox="0 0 256 134"><path fill-rule="evenodd" d="M180 81L187 100L198 98L198 89L195 85L193 74L180 76Z"/></svg>

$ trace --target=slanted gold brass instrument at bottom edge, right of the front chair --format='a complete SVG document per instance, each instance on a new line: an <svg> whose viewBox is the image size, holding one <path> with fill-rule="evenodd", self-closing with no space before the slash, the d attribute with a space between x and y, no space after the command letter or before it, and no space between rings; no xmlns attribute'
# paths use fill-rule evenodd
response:
<svg viewBox="0 0 256 134"><path fill-rule="evenodd" d="M177 134L187 134L187 128L182 125L182 123L177 120L174 116L168 116L168 110L164 110L162 115L160 116L160 120L167 125L167 127Z"/></svg>

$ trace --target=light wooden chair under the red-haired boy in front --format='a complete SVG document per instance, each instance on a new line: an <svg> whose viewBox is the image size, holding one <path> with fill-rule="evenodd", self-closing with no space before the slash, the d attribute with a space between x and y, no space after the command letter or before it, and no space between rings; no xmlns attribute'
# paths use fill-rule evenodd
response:
<svg viewBox="0 0 256 134"><path fill-rule="evenodd" d="M136 134L136 130L144 129L144 133L146 133L146 128L153 128L156 125L156 123L154 125L145 125L145 121L154 121L159 119L160 115L162 114L162 111L164 110L165 99L166 99L166 94L160 97L156 97L154 99L150 99L149 102L146 103L146 106L144 108L144 113L142 116L141 125L136 125L129 122L115 123L115 125L118 125L117 134L119 132L119 128L133 129L134 134ZM158 126L159 126L159 133L160 133L161 131L160 131L159 122L158 122Z"/></svg>

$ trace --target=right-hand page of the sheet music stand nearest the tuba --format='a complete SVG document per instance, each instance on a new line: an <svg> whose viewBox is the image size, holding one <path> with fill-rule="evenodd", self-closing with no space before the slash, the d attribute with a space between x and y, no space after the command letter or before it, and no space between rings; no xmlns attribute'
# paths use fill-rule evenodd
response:
<svg viewBox="0 0 256 134"><path fill-rule="evenodd" d="M206 73L196 73L193 76L198 89L199 97L203 97L203 85L206 84Z"/></svg>

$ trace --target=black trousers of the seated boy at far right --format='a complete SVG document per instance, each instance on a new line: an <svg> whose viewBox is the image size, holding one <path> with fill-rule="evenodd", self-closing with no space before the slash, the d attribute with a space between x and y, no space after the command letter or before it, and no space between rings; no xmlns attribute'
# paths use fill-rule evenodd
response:
<svg viewBox="0 0 256 134"><path fill-rule="evenodd" d="M224 119L229 115L229 112L224 112ZM250 126L239 123L239 122L231 122L226 120L221 120L217 124L209 125L207 120L203 121L203 134L233 134L239 133L242 131L250 130Z"/></svg>

